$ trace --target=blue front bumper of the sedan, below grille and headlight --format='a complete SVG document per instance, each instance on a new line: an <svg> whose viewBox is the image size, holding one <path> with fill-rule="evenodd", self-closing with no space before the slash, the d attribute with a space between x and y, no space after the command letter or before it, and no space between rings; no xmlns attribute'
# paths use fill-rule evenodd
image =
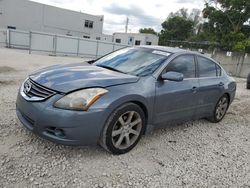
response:
<svg viewBox="0 0 250 188"><path fill-rule="evenodd" d="M98 144L111 109L81 112L54 108L54 101L60 97L55 95L43 102L29 102L19 93L17 117L28 130L52 142L63 145Z"/></svg>

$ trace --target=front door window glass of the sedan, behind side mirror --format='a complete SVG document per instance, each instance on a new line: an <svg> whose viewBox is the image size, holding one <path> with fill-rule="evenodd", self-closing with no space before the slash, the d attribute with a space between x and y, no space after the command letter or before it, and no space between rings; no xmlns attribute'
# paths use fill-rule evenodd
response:
<svg viewBox="0 0 250 188"><path fill-rule="evenodd" d="M164 73L169 71L182 73L184 78L195 78L194 55L180 55L176 57L167 65Z"/></svg>

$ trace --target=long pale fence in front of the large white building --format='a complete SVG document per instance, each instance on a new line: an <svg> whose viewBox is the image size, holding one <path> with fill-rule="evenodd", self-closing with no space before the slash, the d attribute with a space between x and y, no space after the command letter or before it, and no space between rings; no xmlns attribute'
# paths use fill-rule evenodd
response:
<svg viewBox="0 0 250 188"><path fill-rule="evenodd" d="M100 57L128 45L34 31L0 30L0 43L29 53Z"/></svg>

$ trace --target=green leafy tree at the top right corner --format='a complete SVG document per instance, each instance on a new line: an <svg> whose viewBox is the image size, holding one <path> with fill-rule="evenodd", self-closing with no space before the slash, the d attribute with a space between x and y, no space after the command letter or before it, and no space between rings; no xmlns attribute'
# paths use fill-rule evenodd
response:
<svg viewBox="0 0 250 188"><path fill-rule="evenodd" d="M209 0L203 9L208 19L204 33L218 42L226 50L242 51L248 43L250 19L249 0ZM211 37L213 36L213 37Z"/></svg>

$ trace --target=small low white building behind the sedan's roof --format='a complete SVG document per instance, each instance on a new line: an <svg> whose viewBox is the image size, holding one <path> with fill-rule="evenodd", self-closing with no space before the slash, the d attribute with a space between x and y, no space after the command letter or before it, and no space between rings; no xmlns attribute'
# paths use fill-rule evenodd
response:
<svg viewBox="0 0 250 188"><path fill-rule="evenodd" d="M148 33L114 33L113 42L125 45L158 45L159 37Z"/></svg>

